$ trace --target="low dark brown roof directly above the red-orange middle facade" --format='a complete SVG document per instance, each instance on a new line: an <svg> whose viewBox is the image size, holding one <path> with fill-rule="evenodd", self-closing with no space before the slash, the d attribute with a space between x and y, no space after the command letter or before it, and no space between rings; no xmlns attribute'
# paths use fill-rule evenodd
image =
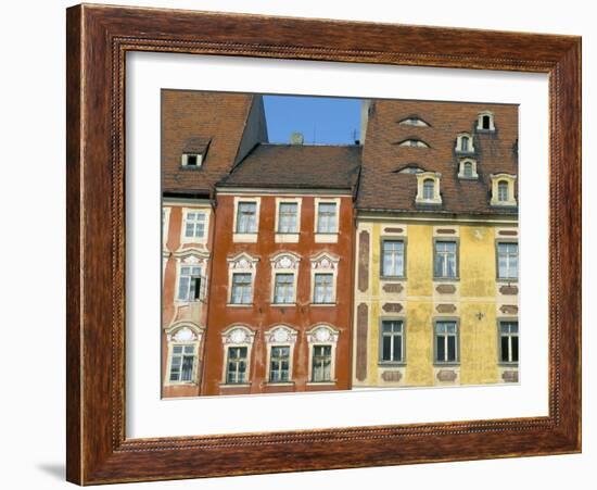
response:
<svg viewBox="0 0 597 490"><path fill-rule="evenodd" d="M360 153L355 145L257 145L218 186L353 189Z"/></svg>

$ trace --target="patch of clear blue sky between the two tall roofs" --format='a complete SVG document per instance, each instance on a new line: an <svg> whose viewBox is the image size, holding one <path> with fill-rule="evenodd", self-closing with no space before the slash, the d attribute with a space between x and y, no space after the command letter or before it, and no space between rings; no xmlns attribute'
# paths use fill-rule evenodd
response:
<svg viewBox="0 0 597 490"><path fill-rule="evenodd" d="M305 143L351 145L359 137L360 99L264 96L269 142L288 143L293 131Z"/></svg>

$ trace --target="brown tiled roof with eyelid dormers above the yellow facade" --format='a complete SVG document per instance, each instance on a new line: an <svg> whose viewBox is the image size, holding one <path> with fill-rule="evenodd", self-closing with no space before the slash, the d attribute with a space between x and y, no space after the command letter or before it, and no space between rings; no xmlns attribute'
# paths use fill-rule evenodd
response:
<svg viewBox="0 0 597 490"><path fill-rule="evenodd" d="M478 114L494 114L495 131L477 130ZM429 126L398 124L420 118ZM455 153L460 133L473 136L478 180L458 178ZM421 140L430 148L403 147L407 140ZM407 165L441 173L442 206L434 212L516 213L490 206L491 174L518 174L518 106L511 104L377 100L369 109L363 151L357 208L361 210L417 211L417 177L398 173Z"/></svg>

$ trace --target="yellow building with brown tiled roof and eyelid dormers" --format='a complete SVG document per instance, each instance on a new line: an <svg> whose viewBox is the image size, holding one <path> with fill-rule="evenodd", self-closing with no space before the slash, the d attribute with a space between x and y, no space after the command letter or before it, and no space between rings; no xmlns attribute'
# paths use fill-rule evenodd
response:
<svg viewBox="0 0 597 490"><path fill-rule="evenodd" d="M518 381L518 108L367 106L353 386Z"/></svg>

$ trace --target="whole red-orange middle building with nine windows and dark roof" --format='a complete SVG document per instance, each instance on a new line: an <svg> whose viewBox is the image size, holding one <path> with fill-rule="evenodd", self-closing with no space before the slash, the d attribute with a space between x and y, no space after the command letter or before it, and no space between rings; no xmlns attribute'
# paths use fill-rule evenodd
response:
<svg viewBox="0 0 597 490"><path fill-rule="evenodd" d="M350 388L359 160L261 143L218 183L203 394Z"/></svg>

